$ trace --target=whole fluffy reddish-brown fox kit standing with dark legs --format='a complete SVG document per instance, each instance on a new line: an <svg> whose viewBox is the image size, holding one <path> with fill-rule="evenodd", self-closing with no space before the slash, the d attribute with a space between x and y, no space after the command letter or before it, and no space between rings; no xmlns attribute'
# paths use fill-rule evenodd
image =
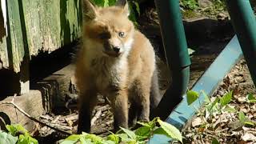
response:
<svg viewBox="0 0 256 144"><path fill-rule="evenodd" d="M118 126L127 128L136 119L149 121L150 107L160 101L154 48L134 29L128 7L126 0L106 8L83 0L82 48L75 71L79 90L78 133L90 132L97 94L110 100L114 130Z"/></svg>

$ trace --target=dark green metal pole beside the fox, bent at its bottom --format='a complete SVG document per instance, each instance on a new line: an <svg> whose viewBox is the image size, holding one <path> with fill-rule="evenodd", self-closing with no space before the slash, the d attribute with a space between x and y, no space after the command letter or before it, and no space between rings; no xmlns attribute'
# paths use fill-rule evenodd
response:
<svg viewBox="0 0 256 144"><path fill-rule="evenodd" d="M172 85L166 91L151 118L167 118L174 106L182 100L190 78L190 56L182 24L179 0L155 0L160 19L162 41L171 70Z"/></svg>

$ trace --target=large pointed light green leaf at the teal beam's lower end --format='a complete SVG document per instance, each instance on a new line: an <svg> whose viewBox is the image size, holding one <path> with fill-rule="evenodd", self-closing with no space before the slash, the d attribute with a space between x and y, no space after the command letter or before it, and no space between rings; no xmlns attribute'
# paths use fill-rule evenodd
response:
<svg viewBox="0 0 256 144"><path fill-rule="evenodd" d="M166 131L166 134L168 134L166 135L167 137L174 138L179 142L182 142L182 134L176 127L170 125L167 122L162 122L160 118L158 118L158 123L160 124L162 129Z"/></svg>

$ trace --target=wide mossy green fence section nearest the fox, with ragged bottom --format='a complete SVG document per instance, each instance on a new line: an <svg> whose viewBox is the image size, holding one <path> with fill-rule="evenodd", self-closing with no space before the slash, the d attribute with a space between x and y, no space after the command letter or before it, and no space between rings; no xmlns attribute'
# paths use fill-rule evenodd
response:
<svg viewBox="0 0 256 144"><path fill-rule="evenodd" d="M54 51L80 37L80 0L22 0L30 55Z"/></svg>

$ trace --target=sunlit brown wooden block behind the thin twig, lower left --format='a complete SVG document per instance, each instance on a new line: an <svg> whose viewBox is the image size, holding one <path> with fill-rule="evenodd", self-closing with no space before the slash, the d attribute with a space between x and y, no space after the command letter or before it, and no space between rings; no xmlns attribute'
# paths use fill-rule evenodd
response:
<svg viewBox="0 0 256 144"><path fill-rule="evenodd" d="M11 102L13 97L7 97L2 102ZM18 105L22 110L34 118L39 118L39 116L44 112L42 94L38 90L30 90L29 93L23 94L22 96L17 96L14 99L14 103ZM24 126L27 130L32 130L34 127L34 122L27 118L24 114L15 110L13 106L0 105L1 113L7 114L11 123L19 123ZM2 114L1 114L2 115ZM0 119L1 119L0 115ZM7 118L5 121L8 121Z"/></svg>

